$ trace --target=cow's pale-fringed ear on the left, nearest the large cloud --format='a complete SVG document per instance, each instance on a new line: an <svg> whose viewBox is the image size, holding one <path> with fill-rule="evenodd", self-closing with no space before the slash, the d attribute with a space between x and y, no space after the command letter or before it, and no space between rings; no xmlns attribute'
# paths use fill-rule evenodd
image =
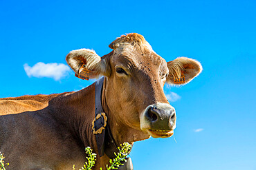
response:
<svg viewBox="0 0 256 170"><path fill-rule="evenodd" d="M77 76L81 73L80 68L84 64L85 69L89 71L89 78L98 78L109 74L109 65L106 59L101 59L93 50L73 50L66 55L66 63Z"/></svg>

